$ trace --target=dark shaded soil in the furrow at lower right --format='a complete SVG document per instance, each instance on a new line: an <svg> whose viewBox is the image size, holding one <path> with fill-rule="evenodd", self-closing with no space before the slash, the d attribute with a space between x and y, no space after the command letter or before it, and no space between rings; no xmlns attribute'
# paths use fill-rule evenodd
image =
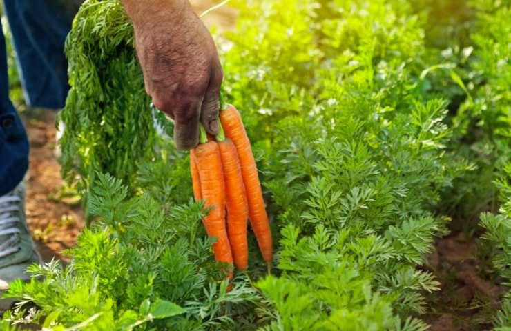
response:
<svg viewBox="0 0 511 331"><path fill-rule="evenodd" d="M484 261L476 259L476 240L459 232L438 239L427 269L441 283L440 292L428 301L430 313L423 320L431 331L492 330L492 318L506 292L490 283Z"/></svg>

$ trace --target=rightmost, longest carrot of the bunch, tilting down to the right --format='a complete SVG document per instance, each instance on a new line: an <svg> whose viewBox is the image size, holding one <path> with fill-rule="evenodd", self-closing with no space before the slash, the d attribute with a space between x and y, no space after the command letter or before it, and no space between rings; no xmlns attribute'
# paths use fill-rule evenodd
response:
<svg viewBox="0 0 511 331"><path fill-rule="evenodd" d="M264 199L262 199L262 188L258 169L253 159L249 137L247 137L247 132L245 132L240 113L233 106L229 105L226 110L220 112L220 122L226 137L231 138L238 151L243 183L247 191L247 201L249 203L249 220L255 233L255 238L258 241L262 257L269 266L273 254L271 230Z"/></svg>

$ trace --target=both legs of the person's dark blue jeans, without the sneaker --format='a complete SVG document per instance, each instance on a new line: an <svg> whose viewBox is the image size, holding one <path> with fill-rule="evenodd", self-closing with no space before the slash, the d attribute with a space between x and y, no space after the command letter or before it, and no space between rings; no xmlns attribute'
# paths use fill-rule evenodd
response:
<svg viewBox="0 0 511 331"><path fill-rule="evenodd" d="M70 2L3 0L29 106L64 107L69 90L64 42L76 9ZM21 182L27 168L28 138L9 99L6 46L0 33L0 196Z"/></svg>

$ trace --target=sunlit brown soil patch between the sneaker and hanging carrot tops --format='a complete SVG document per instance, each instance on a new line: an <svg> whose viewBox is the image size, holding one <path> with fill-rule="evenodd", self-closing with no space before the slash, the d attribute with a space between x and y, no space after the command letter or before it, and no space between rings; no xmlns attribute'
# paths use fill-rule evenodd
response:
<svg viewBox="0 0 511 331"><path fill-rule="evenodd" d="M79 199L66 190L55 156L55 112L28 110L24 114L30 140L26 216L45 262L67 261L63 250L75 245L84 226Z"/></svg>

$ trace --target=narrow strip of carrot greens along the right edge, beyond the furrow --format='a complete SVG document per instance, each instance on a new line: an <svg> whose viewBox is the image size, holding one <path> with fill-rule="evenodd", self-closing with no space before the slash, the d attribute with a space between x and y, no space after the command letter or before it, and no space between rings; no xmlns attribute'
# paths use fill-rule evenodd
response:
<svg viewBox="0 0 511 331"><path fill-rule="evenodd" d="M474 34L477 46L476 59L472 64L479 73L481 86L473 103L465 104L463 111L468 119L478 120L483 132L482 143L488 148L491 159L486 167L492 171L494 190L499 190L498 214L481 214L481 225L485 228L483 239L492 256L498 274L511 286L511 14L510 1L481 1L474 3L481 10L479 31ZM495 319L495 330L510 330L511 299L506 294Z"/></svg>

